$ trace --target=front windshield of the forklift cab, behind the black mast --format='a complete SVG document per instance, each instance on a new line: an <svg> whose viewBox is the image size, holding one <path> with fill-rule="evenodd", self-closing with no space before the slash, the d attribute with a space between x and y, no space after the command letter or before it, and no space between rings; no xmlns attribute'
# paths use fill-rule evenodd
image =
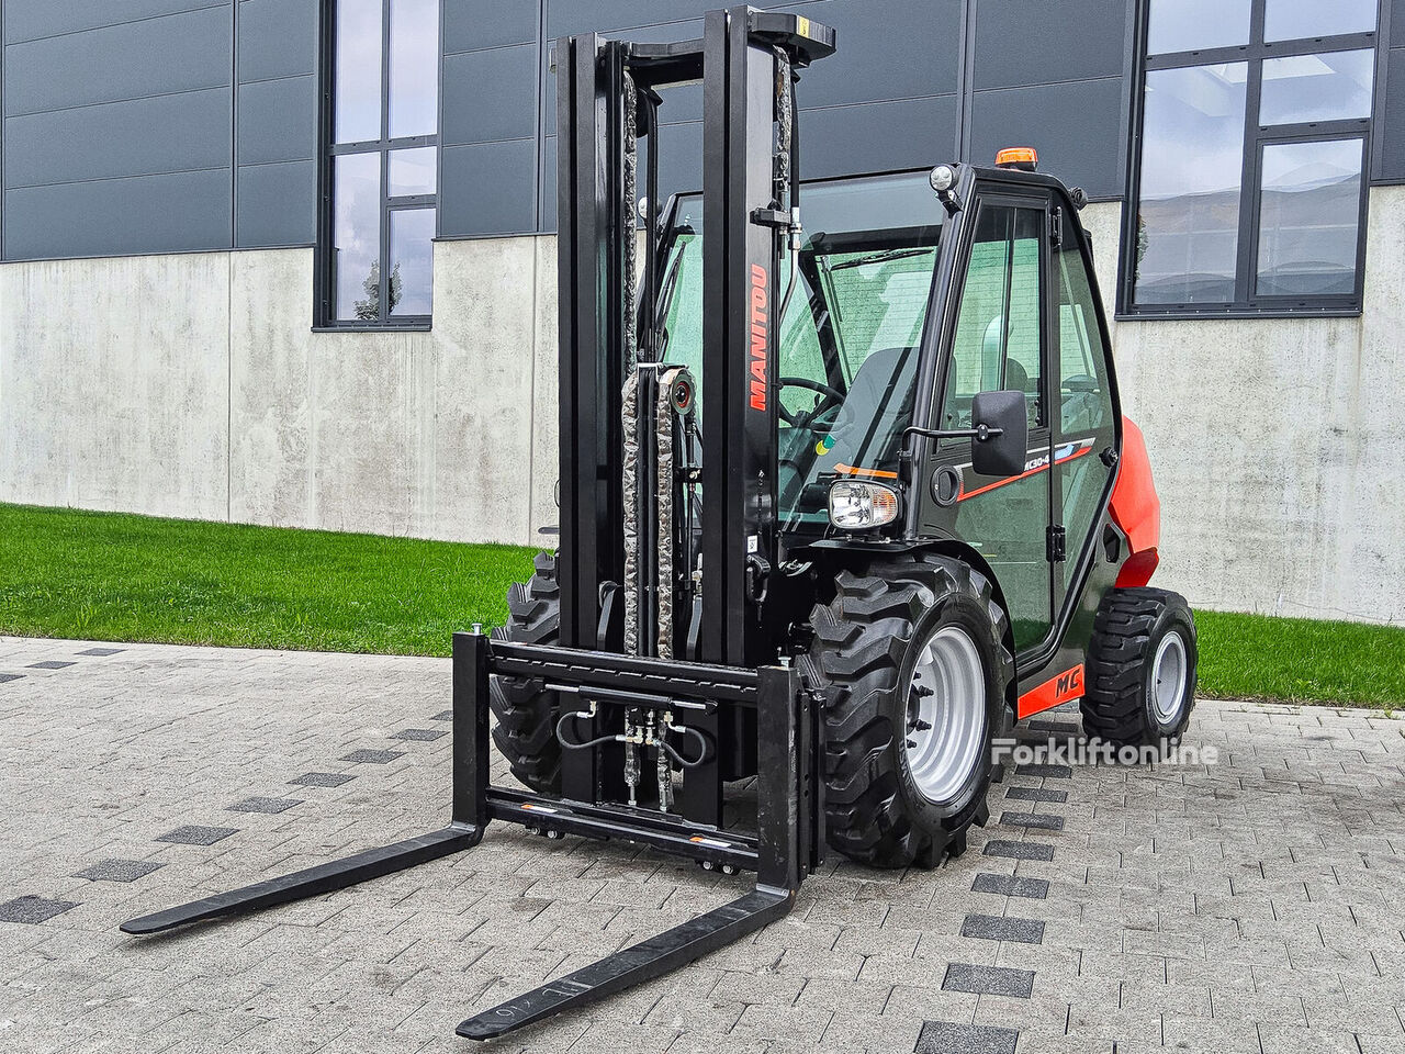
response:
<svg viewBox="0 0 1405 1054"><path fill-rule="evenodd" d="M702 375L702 202L679 200L663 268L663 358ZM926 174L809 184L777 353L777 489L787 531L829 524L840 475L896 479L944 209ZM790 281L788 260L781 289ZM707 408L698 405L707 430Z"/></svg>

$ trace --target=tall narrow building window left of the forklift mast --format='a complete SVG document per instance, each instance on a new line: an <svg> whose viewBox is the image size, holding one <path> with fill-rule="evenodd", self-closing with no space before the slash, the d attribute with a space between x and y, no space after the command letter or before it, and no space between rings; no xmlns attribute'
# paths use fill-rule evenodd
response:
<svg viewBox="0 0 1405 1054"><path fill-rule="evenodd" d="M327 0L318 312L424 327L438 204L440 0Z"/></svg>

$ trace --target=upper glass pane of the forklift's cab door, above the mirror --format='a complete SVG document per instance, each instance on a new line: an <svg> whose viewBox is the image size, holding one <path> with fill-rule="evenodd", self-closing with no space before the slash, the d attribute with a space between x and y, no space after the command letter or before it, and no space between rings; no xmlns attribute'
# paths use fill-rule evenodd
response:
<svg viewBox="0 0 1405 1054"><path fill-rule="evenodd" d="M1040 402L1040 239L1044 212L984 205L961 294L941 422L971 424L978 392L1028 396L1030 427L1045 423Z"/></svg>

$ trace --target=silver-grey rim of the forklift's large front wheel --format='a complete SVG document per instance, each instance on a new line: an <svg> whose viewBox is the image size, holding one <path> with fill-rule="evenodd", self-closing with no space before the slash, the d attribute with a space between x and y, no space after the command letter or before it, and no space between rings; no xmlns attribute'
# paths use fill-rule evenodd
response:
<svg viewBox="0 0 1405 1054"><path fill-rule="evenodd" d="M912 781L927 801L948 802L985 749L985 668L965 630L947 625L927 639L908 682L908 700Z"/></svg>

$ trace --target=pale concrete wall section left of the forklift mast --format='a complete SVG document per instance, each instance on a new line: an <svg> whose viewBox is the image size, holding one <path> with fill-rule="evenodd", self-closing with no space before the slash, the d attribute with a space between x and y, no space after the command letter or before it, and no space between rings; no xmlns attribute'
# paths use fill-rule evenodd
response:
<svg viewBox="0 0 1405 1054"><path fill-rule="evenodd" d="M309 249L0 266L0 500L530 542L554 280L552 238L441 243L433 332L313 333Z"/></svg>

